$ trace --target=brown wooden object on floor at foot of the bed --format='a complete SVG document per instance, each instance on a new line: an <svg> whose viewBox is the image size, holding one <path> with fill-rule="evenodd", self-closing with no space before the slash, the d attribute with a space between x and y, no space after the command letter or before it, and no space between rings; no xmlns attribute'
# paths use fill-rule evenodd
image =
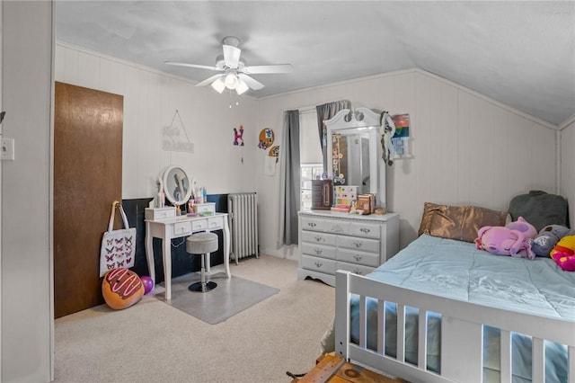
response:
<svg viewBox="0 0 575 383"><path fill-rule="evenodd" d="M291 383L408 383L399 378L389 378L372 370L345 361L341 356L326 354L320 356L313 370L305 377L293 379Z"/></svg>

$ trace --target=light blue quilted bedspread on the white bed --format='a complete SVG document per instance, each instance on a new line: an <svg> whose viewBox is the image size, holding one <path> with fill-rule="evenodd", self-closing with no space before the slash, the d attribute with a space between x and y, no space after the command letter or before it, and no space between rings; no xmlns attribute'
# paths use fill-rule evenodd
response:
<svg viewBox="0 0 575 383"><path fill-rule="evenodd" d="M367 277L447 298L575 322L575 272L563 272L550 258L537 257L530 261L505 257L477 250L470 243L422 235ZM368 310L367 326L376 328L372 327L376 326L376 302L368 301L367 305L374 308L373 312L371 308ZM387 307L385 316L390 324L394 323L393 305ZM405 353L411 362L417 360L417 319L417 315L411 315L408 310ZM436 371L439 370L439 324L440 317L429 314L428 368ZM352 298L351 325L352 339L357 342L357 298ZM485 345L491 348L485 352L487 358L484 359L487 379L492 371L499 370L498 336L497 330L485 331ZM515 381L530 381L531 376L530 340L527 346L523 338L526 337L514 334L512 339L517 347L513 353ZM394 334L386 334L386 343L386 353L394 356ZM367 345L372 349L376 347L373 341ZM555 361L547 364L548 381L566 381L566 347L548 343L546 353L548 361ZM521 357L522 354L526 358Z"/></svg>

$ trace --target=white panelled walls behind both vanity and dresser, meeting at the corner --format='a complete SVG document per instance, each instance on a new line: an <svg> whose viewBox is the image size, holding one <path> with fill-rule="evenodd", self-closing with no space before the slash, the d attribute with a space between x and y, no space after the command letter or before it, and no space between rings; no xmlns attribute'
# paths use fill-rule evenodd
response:
<svg viewBox="0 0 575 383"><path fill-rule="evenodd" d="M250 139L263 128L280 138L282 113L290 109L347 99L354 107L410 113L413 158L386 169L387 204L401 215L402 246L415 238L425 201L507 209L513 196L531 189L558 192L556 127L418 69L259 101L242 98L243 107L231 113L228 97L210 89L62 44L56 76L124 94L123 198L153 196L155 174L169 163L190 166L208 192L254 191L256 185L265 254L296 259L297 249L277 243L279 174L265 174L267 152ZM161 150L160 129L170 124L175 109L194 129L194 155ZM227 147L228 131L241 121L246 146ZM208 165L199 165L206 158Z"/></svg>

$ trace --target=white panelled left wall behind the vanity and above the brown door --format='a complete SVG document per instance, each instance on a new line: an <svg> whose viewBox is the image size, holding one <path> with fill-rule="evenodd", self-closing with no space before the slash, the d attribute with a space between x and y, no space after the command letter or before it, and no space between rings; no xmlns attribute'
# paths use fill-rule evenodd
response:
<svg viewBox="0 0 575 383"><path fill-rule="evenodd" d="M261 128L252 98L217 94L209 86L195 87L178 77L59 43L55 76L58 82L124 96L123 199L154 197L156 180L168 165L181 165L209 194L255 191ZM163 150L162 129L173 121L177 127L183 124L193 154ZM240 124L244 147L233 145L233 129Z"/></svg>

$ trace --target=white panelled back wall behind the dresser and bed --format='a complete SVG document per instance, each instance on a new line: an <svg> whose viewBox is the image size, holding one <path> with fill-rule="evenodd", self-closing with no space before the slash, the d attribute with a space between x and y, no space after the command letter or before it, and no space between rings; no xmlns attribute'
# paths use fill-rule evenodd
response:
<svg viewBox="0 0 575 383"><path fill-rule="evenodd" d="M259 122L281 135L283 111L337 100L353 107L410 113L411 159L387 168L387 205L401 216L401 245L417 235L423 203L505 210L511 197L556 191L555 130L505 105L420 70L370 76L261 100ZM261 252L297 257L278 245L279 177L257 176Z"/></svg>

